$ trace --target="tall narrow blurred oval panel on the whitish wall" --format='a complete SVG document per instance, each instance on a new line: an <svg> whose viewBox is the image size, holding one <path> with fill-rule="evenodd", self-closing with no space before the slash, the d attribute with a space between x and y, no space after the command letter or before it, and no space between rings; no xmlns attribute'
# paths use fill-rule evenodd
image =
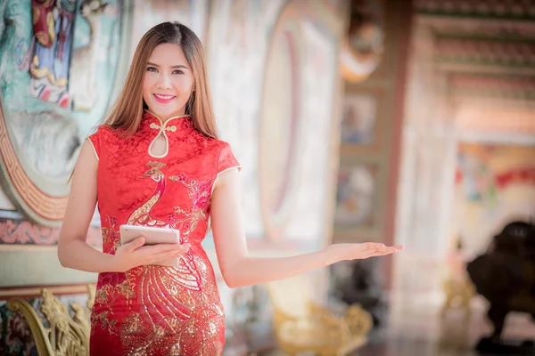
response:
<svg viewBox="0 0 535 356"><path fill-rule="evenodd" d="M298 9L286 6L268 49L259 118L260 209L270 239L283 238L299 189L303 46Z"/></svg>

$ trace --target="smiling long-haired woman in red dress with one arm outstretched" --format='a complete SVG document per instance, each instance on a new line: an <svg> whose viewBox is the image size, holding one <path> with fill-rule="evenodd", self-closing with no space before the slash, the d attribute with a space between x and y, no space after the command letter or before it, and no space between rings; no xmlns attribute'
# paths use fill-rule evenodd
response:
<svg viewBox="0 0 535 356"><path fill-rule="evenodd" d="M58 247L63 266L99 273L92 355L222 353L223 307L201 246L210 217L229 287L399 250L349 244L250 257L239 169L229 145L217 139L201 42L177 22L152 28L137 46L115 107L82 147ZM103 253L86 244L97 201ZM181 244L144 246L139 237L120 246L124 223L177 229ZM169 258L178 258L177 266L155 265Z"/></svg>

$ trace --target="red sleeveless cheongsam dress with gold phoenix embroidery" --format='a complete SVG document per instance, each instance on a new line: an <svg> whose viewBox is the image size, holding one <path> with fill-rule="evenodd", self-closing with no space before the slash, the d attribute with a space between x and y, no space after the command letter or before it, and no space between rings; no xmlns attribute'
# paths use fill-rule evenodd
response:
<svg viewBox="0 0 535 356"><path fill-rule="evenodd" d="M160 135L166 150L156 155ZM223 306L201 242L218 174L239 167L230 146L199 133L190 117L164 123L149 112L133 136L100 126L89 140L98 158L103 252L115 253L125 223L177 229L191 244L176 267L99 274L91 355L221 355Z"/></svg>

